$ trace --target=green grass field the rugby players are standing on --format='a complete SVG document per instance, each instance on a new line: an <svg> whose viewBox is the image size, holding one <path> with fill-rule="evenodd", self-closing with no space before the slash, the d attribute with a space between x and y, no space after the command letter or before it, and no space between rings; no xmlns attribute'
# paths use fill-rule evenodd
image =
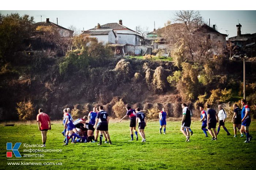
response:
<svg viewBox="0 0 256 170"><path fill-rule="evenodd" d="M145 130L146 143L127 142L129 123L110 123L109 133L113 145L103 143L76 143L63 146L61 123L53 123L48 131L45 149L62 149L59 153L43 153L44 158L12 158L6 157L6 143L22 142L19 148L23 156L23 143L41 144L41 135L37 124L15 124L13 127L0 125L0 169L256 169L256 122L250 126L251 143L243 143L245 138L234 138L232 124L226 123L231 135L227 136L221 129L218 141L205 138L199 121L192 122L194 134L190 142L185 142L180 132L180 122L167 122L167 135L160 135L159 123L148 122ZM37 149L37 148L31 148ZM31 153L35 154L35 153ZM37 153L38 154L38 153ZM42 154L42 153L39 153ZM7 160L36 159L36 160ZM45 160L61 159L61 160ZM10 162L51 162L62 165L8 165Z"/></svg>

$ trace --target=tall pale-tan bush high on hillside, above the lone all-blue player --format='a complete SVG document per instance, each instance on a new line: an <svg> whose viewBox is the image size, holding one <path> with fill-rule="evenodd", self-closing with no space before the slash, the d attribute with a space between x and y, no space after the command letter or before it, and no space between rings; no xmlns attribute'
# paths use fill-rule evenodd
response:
<svg viewBox="0 0 256 170"><path fill-rule="evenodd" d="M155 92L163 92L166 88L165 69L159 66L155 69L153 75L153 90Z"/></svg>

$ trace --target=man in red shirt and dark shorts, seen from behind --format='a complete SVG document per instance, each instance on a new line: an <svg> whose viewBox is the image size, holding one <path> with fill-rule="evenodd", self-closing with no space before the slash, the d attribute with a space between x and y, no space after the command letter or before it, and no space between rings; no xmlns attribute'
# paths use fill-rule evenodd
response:
<svg viewBox="0 0 256 170"><path fill-rule="evenodd" d="M46 135L47 135L47 131L51 130L51 121L50 118L47 114L43 113L43 109L39 108L38 110L38 115L37 115L37 124L38 124L38 129L41 131L41 135L42 135L42 142L45 145L46 143Z"/></svg>

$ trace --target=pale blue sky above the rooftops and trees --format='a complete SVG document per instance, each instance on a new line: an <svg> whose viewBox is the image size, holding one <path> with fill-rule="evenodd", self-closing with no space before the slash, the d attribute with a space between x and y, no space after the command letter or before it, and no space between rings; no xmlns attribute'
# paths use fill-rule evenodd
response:
<svg viewBox="0 0 256 170"><path fill-rule="evenodd" d="M101 25L114 23L119 19L123 20L123 25L135 30L136 26L148 27L149 31L155 27L163 27L167 20L173 20L175 11L0 11L6 15L11 12L18 12L20 15L29 14L34 16L35 22L50 21L67 28L74 25L80 31L93 28L97 23ZM200 11L204 20L208 24L216 24L221 33L228 30L229 37L236 36L236 24L241 23L242 33L256 32L256 11Z"/></svg>

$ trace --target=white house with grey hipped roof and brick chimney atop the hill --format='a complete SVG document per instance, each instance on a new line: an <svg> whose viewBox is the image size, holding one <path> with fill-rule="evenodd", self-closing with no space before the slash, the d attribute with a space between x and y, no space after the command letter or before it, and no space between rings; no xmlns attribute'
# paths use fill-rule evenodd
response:
<svg viewBox="0 0 256 170"><path fill-rule="evenodd" d="M103 41L105 44L138 45L140 44L140 39L143 39L140 33L125 27L122 20L119 20L119 23L108 23L104 25L98 23L95 28L83 31L82 34L96 37L98 41Z"/></svg>

